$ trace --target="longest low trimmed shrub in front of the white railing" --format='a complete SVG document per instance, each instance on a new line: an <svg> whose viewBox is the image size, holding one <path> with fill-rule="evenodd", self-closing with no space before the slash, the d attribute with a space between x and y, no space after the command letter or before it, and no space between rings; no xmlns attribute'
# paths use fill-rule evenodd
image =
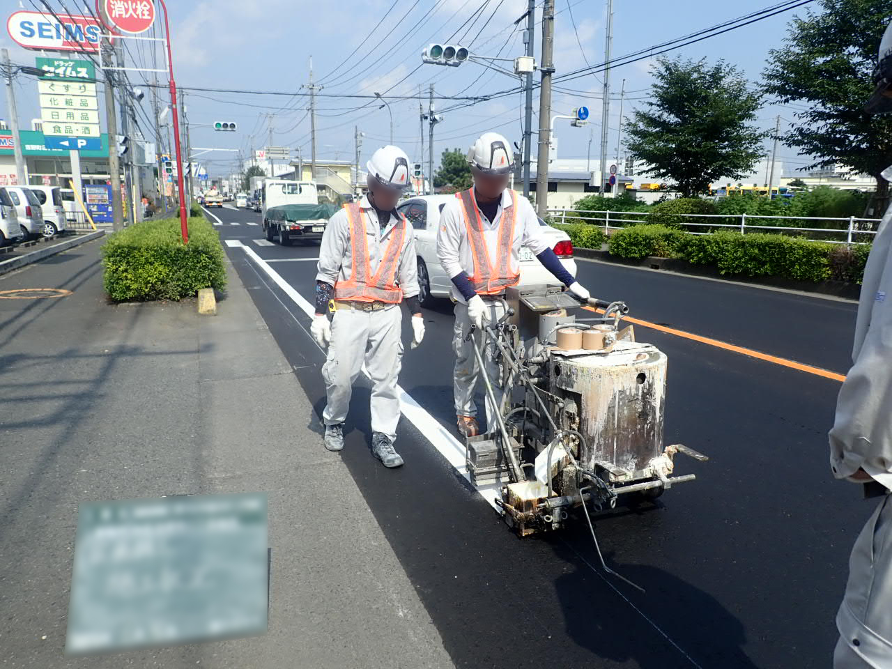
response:
<svg viewBox="0 0 892 669"><path fill-rule="evenodd" d="M799 281L830 278L832 247L797 237L722 231L689 235L683 256L698 265L714 265L722 274L784 277Z"/></svg>

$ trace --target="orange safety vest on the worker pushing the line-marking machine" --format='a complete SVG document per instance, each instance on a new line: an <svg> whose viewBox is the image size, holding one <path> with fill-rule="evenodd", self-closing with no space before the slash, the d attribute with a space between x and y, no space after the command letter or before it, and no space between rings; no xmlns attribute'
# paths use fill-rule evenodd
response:
<svg viewBox="0 0 892 669"><path fill-rule="evenodd" d="M462 203L467 240L471 244L471 255L474 256L474 276L470 279L471 287L476 293L495 295L501 293L509 285L515 285L520 281L520 274L511 272L511 246L514 243L517 194L514 191L510 191L510 193L511 205L502 210L499 222L499 248L496 251L495 263L492 262L490 252L486 248L486 240L483 238L483 219L480 216L480 210L477 209L474 193L468 189L456 194Z"/></svg>

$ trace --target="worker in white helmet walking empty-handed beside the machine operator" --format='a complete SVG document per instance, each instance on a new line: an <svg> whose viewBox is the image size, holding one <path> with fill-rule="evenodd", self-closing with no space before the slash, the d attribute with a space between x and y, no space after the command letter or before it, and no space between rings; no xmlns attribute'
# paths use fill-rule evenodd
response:
<svg viewBox="0 0 892 669"><path fill-rule="evenodd" d="M412 315L413 346L425 336L415 235L395 209L409 186L409 157L396 146L384 146L367 167L368 194L345 204L322 235L311 334L328 348L322 368L328 401L322 414L326 449L343 449L352 385L365 363L372 382L372 454L384 467L400 467L393 442L400 420L401 302ZM326 316L329 302L334 306L331 322Z"/></svg>

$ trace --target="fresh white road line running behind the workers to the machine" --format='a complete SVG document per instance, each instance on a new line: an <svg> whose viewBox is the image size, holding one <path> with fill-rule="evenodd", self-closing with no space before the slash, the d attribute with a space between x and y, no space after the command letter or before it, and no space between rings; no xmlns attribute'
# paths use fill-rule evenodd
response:
<svg viewBox="0 0 892 669"><path fill-rule="evenodd" d="M254 252L253 249L245 246L237 239L227 239L227 246L241 246L248 257L253 260L257 266L266 272L267 276L281 288L288 297L303 311L307 316L312 316L316 308L307 301L301 293L294 290L293 286L285 281L279 273L271 268L267 260L263 260ZM263 240L254 240L255 242ZM269 243L267 243L269 244ZM270 244L271 245L271 244ZM301 259L302 260L302 259ZM310 260L310 259L307 259ZM315 343L315 342L314 342ZM365 366L363 366L363 374L366 374ZM366 374L368 376L368 374ZM415 401L408 392L404 391L401 386L397 386L397 392L400 393L400 408L402 415L405 416L412 425L415 425L418 432L425 435L427 440L431 442L434 448L440 451L443 458L470 483L470 476L467 474L465 466L465 445L458 441L450 432L443 427L440 422L431 416L428 411ZM476 486L477 492L486 500L492 508L501 512L496 505L495 500L499 497L500 483L492 483L491 485Z"/></svg>

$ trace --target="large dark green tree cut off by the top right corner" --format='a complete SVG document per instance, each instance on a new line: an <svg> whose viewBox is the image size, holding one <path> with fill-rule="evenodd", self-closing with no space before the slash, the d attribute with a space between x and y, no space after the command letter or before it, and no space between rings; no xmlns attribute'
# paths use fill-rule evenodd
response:
<svg viewBox="0 0 892 669"><path fill-rule="evenodd" d="M844 165L875 178L885 198L880 172L892 163L892 118L863 107L892 0L821 0L821 8L790 21L783 47L769 52L765 90L803 106L781 141L814 156L804 169Z"/></svg>

